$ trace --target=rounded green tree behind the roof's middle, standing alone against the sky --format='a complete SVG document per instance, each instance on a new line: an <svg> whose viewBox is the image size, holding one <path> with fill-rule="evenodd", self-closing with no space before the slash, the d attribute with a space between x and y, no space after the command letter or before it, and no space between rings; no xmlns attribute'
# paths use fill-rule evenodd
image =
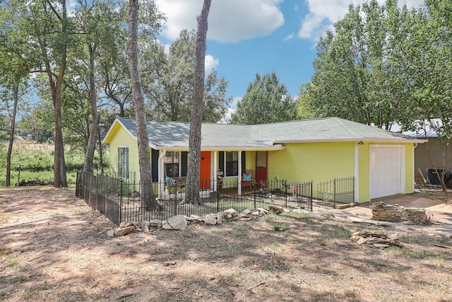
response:
<svg viewBox="0 0 452 302"><path fill-rule="evenodd" d="M232 113L233 124L265 124L297 120L298 102L287 93L275 71L256 78L249 83L237 110Z"/></svg>

